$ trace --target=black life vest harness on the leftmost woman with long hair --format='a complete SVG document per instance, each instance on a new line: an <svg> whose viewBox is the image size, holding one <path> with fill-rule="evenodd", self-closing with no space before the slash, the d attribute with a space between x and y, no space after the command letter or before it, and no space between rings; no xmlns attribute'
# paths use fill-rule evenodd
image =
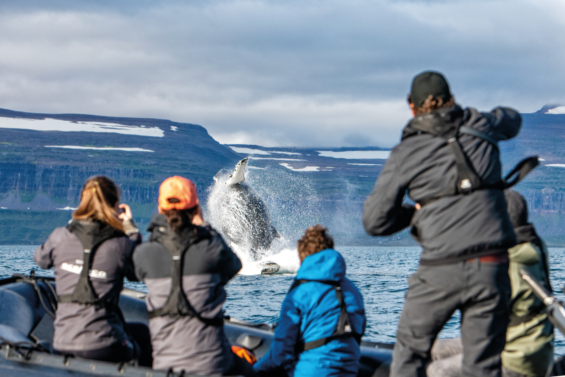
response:
<svg viewBox="0 0 565 377"><path fill-rule="evenodd" d="M97 305L111 309L117 307L117 300L120 292L108 292L105 296L98 298L98 294L94 292L92 283L90 282L90 269L94 254L102 242L114 237L125 237L123 232L117 231L109 224L96 222L98 228L85 227L80 221L71 220L67 225L69 232L73 233L82 244L82 270L80 272L79 283L77 283L72 294L62 294L59 296L59 302L75 302L83 305Z"/></svg>

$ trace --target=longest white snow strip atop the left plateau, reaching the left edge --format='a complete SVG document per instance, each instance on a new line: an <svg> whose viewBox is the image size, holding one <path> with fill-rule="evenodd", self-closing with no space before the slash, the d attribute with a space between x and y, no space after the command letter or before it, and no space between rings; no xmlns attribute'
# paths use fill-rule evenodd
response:
<svg viewBox="0 0 565 377"><path fill-rule="evenodd" d="M33 129L36 131L88 131L88 132L113 132L124 135L163 137L164 132L159 127L145 127L145 125L123 125L103 122L71 122L61 119L27 119L0 117L0 128Z"/></svg>

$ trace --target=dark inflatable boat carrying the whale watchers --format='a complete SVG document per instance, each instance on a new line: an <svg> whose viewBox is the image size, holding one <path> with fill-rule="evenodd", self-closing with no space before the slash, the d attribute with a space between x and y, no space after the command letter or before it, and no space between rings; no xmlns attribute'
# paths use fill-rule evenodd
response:
<svg viewBox="0 0 565 377"><path fill-rule="evenodd" d="M3 377L189 377L184 373L153 370L133 363L109 363L74 358L54 352L53 313L56 308L53 278L15 274L0 279L0 376ZM147 324L145 293L124 289L119 306L126 322ZM224 320L232 345L253 350L257 358L267 353L273 326L233 318ZM360 377L389 375L392 344L362 341Z"/></svg>

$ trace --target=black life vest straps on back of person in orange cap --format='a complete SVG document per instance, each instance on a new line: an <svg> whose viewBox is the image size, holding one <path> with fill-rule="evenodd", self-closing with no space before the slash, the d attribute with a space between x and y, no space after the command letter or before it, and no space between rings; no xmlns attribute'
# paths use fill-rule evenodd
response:
<svg viewBox="0 0 565 377"><path fill-rule="evenodd" d="M188 252L190 245L194 243L193 240L195 239L197 238L183 237L183 239L181 239L182 245L180 248L174 248L172 245L169 245L168 242L160 242L157 240L159 244L172 254L173 263L171 268L171 290L169 291L167 301L162 307L147 312L149 319L163 317L165 315L168 315L169 317L196 317L201 320L201 322L210 326L223 326L223 318L202 318L202 316L194 310L192 305L190 305L188 298L184 294L184 289L182 288L182 272L184 269L186 252Z"/></svg>

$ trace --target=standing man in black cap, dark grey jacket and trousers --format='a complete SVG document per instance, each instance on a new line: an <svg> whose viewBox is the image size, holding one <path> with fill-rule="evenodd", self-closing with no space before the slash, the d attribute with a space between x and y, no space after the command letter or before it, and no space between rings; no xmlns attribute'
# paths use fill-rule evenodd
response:
<svg viewBox="0 0 565 377"><path fill-rule="evenodd" d="M518 112L461 109L445 78L423 72L408 98L414 113L363 208L373 236L410 224L422 246L408 279L391 376L424 376L438 332L462 312L463 375L498 376L509 322L506 212L497 142L520 130ZM405 193L416 202L403 204Z"/></svg>

